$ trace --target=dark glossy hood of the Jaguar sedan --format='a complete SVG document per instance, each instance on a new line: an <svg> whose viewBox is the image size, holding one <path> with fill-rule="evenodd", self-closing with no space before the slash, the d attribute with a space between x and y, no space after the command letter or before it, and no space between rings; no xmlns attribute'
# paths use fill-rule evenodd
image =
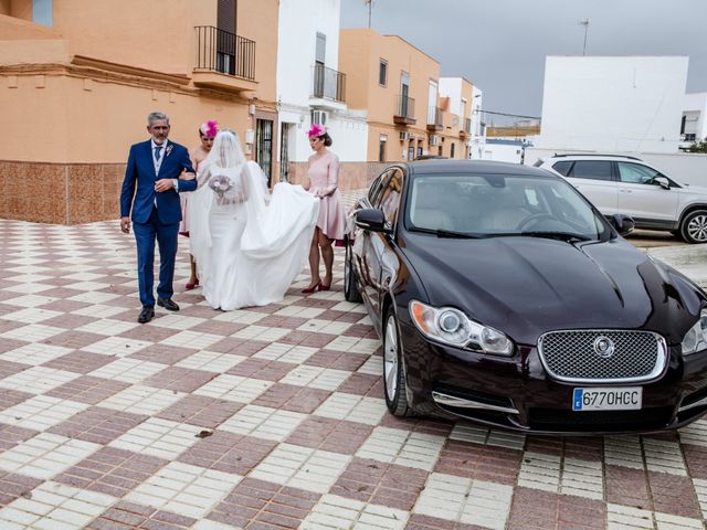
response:
<svg viewBox="0 0 707 530"><path fill-rule="evenodd" d="M645 329L679 343L704 294L623 239L451 240L408 234L402 248L433 306L535 344L558 329Z"/></svg>

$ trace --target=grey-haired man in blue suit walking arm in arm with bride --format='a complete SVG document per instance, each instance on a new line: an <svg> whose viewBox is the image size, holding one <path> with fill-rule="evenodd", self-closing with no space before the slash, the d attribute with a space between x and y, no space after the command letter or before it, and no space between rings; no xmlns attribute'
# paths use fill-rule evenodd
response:
<svg viewBox="0 0 707 530"><path fill-rule="evenodd" d="M169 118L162 113L150 113L147 130L151 138L130 148L125 180L120 191L120 230L133 230L137 242L137 274L143 310L137 321L149 322L155 317L155 241L159 246L159 285L157 305L170 311L179 306L172 300L172 278L177 256L177 232L181 221L179 192L197 189L194 169L189 151L168 141ZM191 179L181 180L183 172Z"/></svg>

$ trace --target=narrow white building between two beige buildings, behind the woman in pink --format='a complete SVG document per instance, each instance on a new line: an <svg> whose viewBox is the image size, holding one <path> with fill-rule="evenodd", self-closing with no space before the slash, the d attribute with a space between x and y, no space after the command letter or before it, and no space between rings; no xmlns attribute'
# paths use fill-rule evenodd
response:
<svg viewBox="0 0 707 530"><path fill-rule="evenodd" d="M279 180L288 162L312 155L307 130L326 126L341 161L365 161L366 113L348 110L346 75L338 72L341 0L281 0L277 43Z"/></svg>

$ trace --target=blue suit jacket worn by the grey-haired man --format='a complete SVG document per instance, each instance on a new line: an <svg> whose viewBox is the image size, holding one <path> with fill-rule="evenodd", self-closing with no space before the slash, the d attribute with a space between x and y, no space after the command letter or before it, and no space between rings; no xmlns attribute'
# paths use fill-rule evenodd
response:
<svg viewBox="0 0 707 530"><path fill-rule="evenodd" d="M130 147L128 166L125 169L125 179L120 191L122 218L130 214L131 204L133 221L146 223L157 199L157 213L161 223L171 224L181 221L179 193L176 190L157 193L155 182L159 179L177 179L182 171L187 170L193 173L194 169L191 167L189 151L186 147L167 140L165 149L159 174L155 174L150 140ZM179 191L193 191L197 189L197 180L179 180L178 188ZM134 197L135 200L133 200Z"/></svg>

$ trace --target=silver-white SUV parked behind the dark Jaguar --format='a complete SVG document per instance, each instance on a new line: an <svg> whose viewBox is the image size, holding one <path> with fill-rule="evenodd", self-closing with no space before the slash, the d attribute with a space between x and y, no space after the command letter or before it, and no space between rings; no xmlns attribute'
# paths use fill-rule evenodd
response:
<svg viewBox="0 0 707 530"><path fill-rule="evenodd" d="M536 167L564 177L601 213L631 215L637 229L667 230L707 243L707 188L678 184L635 157L555 155Z"/></svg>

